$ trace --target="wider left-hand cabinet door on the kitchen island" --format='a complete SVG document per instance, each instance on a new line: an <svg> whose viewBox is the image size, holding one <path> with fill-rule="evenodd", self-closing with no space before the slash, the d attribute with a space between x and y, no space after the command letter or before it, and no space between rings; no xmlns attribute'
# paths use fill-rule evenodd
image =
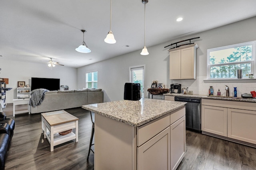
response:
<svg viewBox="0 0 256 170"><path fill-rule="evenodd" d="M170 169L170 127L137 149L138 170Z"/></svg>

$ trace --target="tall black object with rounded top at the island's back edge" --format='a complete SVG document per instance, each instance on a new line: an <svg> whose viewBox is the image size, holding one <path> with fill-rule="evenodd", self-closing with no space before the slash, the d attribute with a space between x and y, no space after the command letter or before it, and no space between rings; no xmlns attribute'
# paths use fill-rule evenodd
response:
<svg viewBox="0 0 256 170"><path fill-rule="evenodd" d="M140 83L124 84L124 100L140 100L141 91Z"/></svg>

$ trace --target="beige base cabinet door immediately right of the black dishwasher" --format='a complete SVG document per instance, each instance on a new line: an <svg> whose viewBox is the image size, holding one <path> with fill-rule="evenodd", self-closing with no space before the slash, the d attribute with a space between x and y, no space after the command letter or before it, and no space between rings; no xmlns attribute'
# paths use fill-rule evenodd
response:
<svg viewBox="0 0 256 170"><path fill-rule="evenodd" d="M227 137L228 109L202 105L202 131Z"/></svg>

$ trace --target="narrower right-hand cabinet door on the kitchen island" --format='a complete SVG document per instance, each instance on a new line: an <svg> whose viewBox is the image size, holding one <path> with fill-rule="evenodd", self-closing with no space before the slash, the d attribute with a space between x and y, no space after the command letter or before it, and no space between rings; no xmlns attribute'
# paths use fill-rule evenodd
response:
<svg viewBox="0 0 256 170"><path fill-rule="evenodd" d="M176 170L186 152L186 116L170 126L171 170Z"/></svg>

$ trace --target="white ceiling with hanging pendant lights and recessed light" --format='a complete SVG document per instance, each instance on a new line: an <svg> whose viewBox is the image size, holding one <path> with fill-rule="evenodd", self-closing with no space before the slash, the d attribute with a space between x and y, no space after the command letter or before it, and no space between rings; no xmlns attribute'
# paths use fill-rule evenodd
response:
<svg viewBox="0 0 256 170"><path fill-rule="evenodd" d="M256 16L256 0L149 0L146 47ZM178 17L183 17L177 22ZM91 53L75 51L84 39ZM78 68L144 47L144 4L112 0L0 0L2 59ZM174 43L174 42L173 42ZM130 47L124 47L130 45ZM168 43L166 45L169 45ZM0 58L0 59L1 59Z"/></svg>

